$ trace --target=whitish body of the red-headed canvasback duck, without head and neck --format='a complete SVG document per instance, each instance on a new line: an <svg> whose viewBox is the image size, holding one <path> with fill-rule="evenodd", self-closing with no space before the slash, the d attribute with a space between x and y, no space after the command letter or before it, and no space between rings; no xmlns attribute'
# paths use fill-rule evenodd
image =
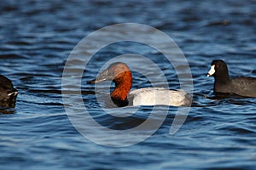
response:
<svg viewBox="0 0 256 170"><path fill-rule="evenodd" d="M132 105L190 105L189 94L183 90L166 88L140 88L130 92Z"/></svg>

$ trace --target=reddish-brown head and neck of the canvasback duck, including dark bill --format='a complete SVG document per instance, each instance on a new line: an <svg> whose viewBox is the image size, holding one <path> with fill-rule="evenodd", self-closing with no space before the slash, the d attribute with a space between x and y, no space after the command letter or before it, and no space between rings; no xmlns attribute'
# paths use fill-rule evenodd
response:
<svg viewBox="0 0 256 170"><path fill-rule="evenodd" d="M115 88L110 94L114 103L125 102L124 104L116 104L119 106L128 105L127 95L131 89L132 77L131 71L125 63L116 62L108 66L108 69L102 71L102 73L96 77L95 80L92 80L88 83L96 83L103 81L113 81L115 83Z"/></svg>

